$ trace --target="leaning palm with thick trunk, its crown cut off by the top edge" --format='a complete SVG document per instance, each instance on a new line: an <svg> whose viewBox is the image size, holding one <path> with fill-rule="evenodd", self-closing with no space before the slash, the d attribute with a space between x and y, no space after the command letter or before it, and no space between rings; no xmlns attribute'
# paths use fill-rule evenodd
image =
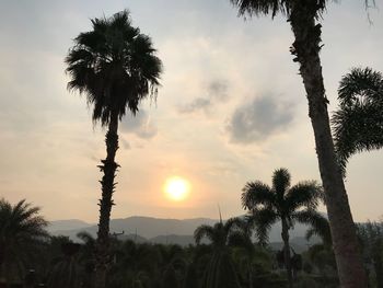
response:
<svg viewBox="0 0 383 288"><path fill-rule="evenodd" d="M356 228L343 174L336 160L325 95L320 51L322 25L318 19L329 0L230 0L240 15L286 15L294 34L290 48L299 62L309 100L309 116L314 130L318 166L326 192L327 215L343 287L365 287L365 274L358 249ZM365 0L367 2L369 0Z"/></svg>

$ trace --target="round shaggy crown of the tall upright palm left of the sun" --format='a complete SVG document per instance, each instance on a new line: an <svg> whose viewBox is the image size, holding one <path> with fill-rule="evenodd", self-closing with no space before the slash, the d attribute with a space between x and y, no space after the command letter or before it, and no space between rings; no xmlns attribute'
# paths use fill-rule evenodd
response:
<svg viewBox="0 0 383 288"><path fill-rule="evenodd" d="M94 123L106 126L112 113L119 119L128 111L136 115L143 99L156 96L162 62L150 37L131 26L127 10L92 25L74 38L65 59L68 89L84 94Z"/></svg>

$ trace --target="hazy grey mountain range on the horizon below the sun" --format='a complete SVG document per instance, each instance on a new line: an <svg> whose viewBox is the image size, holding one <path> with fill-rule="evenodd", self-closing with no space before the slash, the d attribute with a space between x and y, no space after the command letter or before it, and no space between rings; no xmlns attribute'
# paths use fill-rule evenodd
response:
<svg viewBox="0 0 383 288"><path fill-rule="evenodd" d="M212 226L216 219L195 218L195 219L160 219L151 217L129 217L111 220L111 233L121 240L130 239L138 243L151 242L162 244L195 244L193 234L197 227L201 224ZM297 251L306 250L307 241L304 239L306 226L295 224L295 229L290 230L291 243L295 245ZM89 224L81 220L54 221L49 226L49 232L53 235L67 235L73 241L78 241L77 233L85 231L96 237L97 226ZM272 247L281 246L281 224L272 226L269 233L269 241ZM123 234L119 234L123 233ZM310 244L318 240L310 241Z"/></svg>

